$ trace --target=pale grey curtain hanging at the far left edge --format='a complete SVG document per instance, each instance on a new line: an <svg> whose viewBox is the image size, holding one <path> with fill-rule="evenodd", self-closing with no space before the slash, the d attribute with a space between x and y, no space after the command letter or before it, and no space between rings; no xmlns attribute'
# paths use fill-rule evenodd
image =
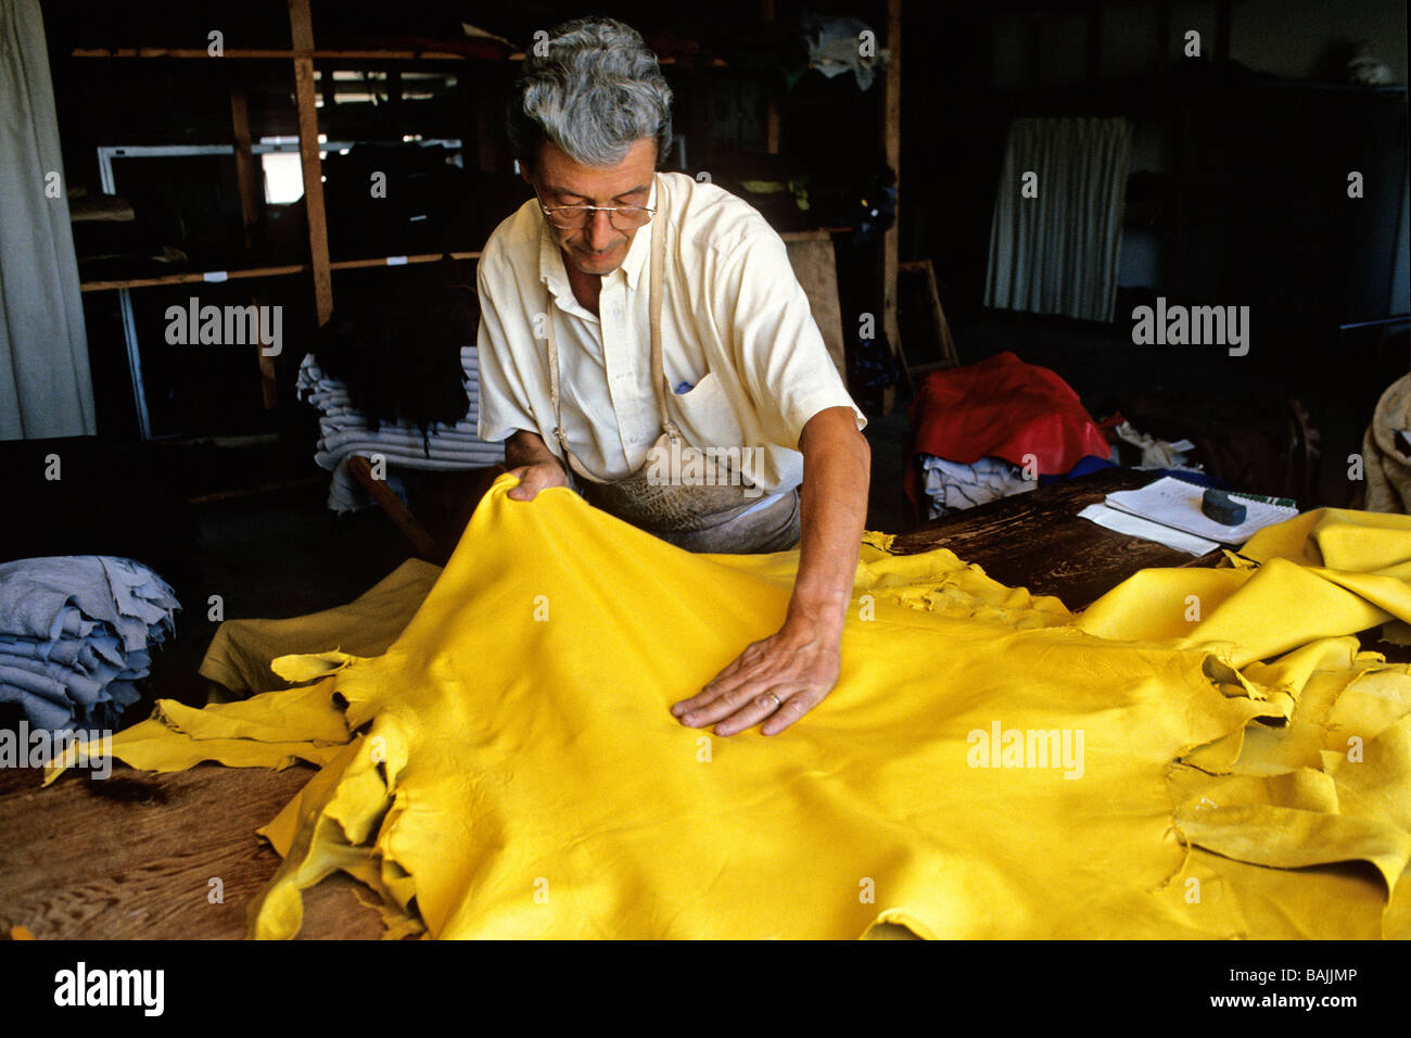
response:
<svg viewBox="0 0 1411 1038"><path fill-rule="evenodd" d="M38 0L0 1L0 439L90 436L93 381Z"/></svg>

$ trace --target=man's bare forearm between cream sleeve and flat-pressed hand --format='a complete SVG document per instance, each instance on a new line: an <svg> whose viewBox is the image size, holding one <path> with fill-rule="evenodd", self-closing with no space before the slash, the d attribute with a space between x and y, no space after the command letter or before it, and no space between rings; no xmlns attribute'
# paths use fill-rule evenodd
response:
<svg viewBox="0 0 1411 1038"><path fill-rule="evenodd" d="M809 419L799 449L801 539L789 621L841 631L866 523L872 453L847 407L832 407Z"/></svg>

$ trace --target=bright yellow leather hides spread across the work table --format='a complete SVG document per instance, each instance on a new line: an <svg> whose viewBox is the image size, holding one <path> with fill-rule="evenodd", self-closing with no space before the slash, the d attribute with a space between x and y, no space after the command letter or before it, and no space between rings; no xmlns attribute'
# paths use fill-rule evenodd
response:
<svg viewBox="0 0 1411 1038"><path fill-rule="evenodd" d="M344 870L389 936L1411 936L1411 675L1349 637L1411 620L1407 517L1308 513L1079 617L869 534L837 689L720 739L667 708L777 628L797 554L514 484L381 655L310 644L274 669L312 685L114 739L320 765L251 935Z"/></svg>

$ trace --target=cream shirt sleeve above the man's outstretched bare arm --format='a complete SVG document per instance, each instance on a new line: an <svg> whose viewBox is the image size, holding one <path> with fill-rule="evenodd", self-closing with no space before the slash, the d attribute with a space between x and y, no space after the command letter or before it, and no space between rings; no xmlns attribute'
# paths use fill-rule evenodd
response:
<svg viewBox="0 0 1411 1038"><path fill-rule="evenodd" d="M727 342L770 439L797 451L803 426L830 407L849 408L862 429L868 419L838 377L789 250L763 217L731 247L720 271L715 312L729 321Z"/></svg>

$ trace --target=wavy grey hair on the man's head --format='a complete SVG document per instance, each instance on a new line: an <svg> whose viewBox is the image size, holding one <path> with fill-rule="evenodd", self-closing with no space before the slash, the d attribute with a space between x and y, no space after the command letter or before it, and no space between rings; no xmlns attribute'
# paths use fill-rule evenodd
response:
<svg viewBox="0 0 1411 1038"><path fill-rule="evenodd" d="M593 167L617 165L643 137L658 167L672 147L672 88L642 35L612 18L566 21L531 47L507 114L522 167L545 141Z"/></svg>

